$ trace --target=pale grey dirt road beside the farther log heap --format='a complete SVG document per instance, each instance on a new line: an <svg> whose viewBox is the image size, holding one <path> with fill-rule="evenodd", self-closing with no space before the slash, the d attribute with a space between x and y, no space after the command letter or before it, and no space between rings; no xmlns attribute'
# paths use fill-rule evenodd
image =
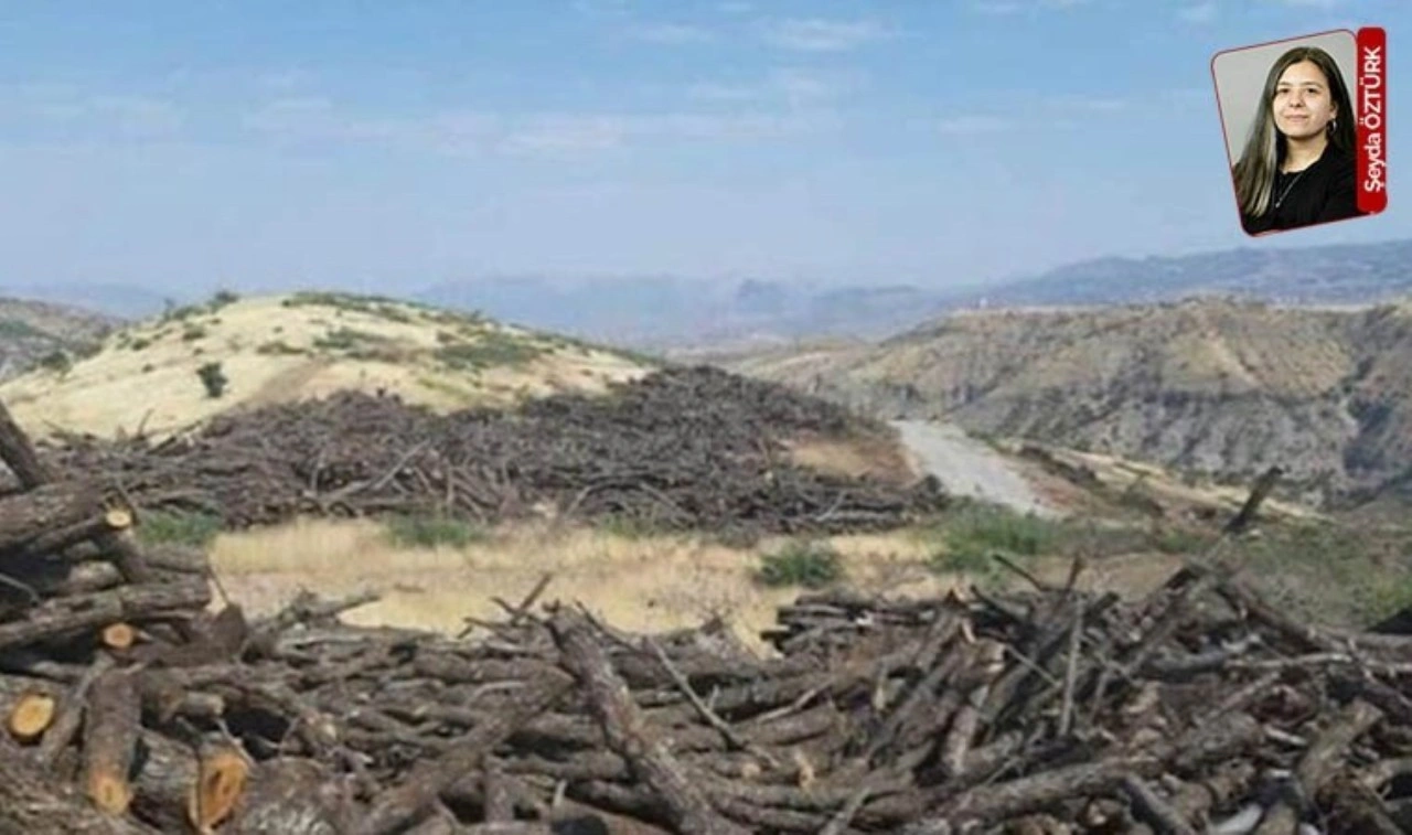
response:
<svg viewBox="0 0 1412 835"><path fill-rule="evenodd" d="M931 421L892 421L892 425L902 434L902 442L912 455L926 472L942 480L947 492L1008 504L1021 513L1060 516L1039 500L1003 455L959 427Z"/></svg>

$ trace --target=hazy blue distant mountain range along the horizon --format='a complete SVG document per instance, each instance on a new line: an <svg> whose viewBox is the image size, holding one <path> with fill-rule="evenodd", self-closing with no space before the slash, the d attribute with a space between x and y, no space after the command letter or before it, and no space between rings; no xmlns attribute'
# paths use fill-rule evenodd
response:
<svg viewBox="0 0 1412 835"><path fill-rule="evenodd" d="M1073 307L1237 295L1278 304L1367 304L1412 294L1412 239L1298 249L1241 247L1190 256L1096 259L984 287L820 287L747 277L558 280L500 276L385 288L385 295L638 349L760 346L806 338L878 339L980 307ZM233 287L240 290L239 283ZM332 285L326 290L363 290ZM267 288L315 290L312 287ZM165 294L113 284L8 284L0 294L138 318ZM201 301L171 294L169 301Z"/></svg>

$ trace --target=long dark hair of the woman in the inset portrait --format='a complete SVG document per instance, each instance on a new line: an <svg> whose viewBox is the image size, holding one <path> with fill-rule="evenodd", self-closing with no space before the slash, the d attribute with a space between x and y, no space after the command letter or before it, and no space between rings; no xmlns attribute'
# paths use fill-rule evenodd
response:
<svg viewBox="0 0 1412 835"><path fill-rule="evenodd" d="M1353 131L1354 109L1348 97L1348 88L1343 82L1343 73L1334 59L1319 47L1295 47L1286 51L1269 68L1265 76L1265 89L1260 95L1260 105L1255 106L1255 122L1245 137L1245 147L1241 150L1240 161L1233 170L1236 178L1236 198L1240 209L1248 216L1260 216L1269 208L1271 192L1275 188L1275 170L1285 158L1285 136L1275 129L1272 113L1275 100L1275 86L1279 76L1291 65L1309 61L1329 79L1329 96L1334 105L1333 130L1329 131L1329 141L1343 151L1353 151L1357 138Z"/></svg>

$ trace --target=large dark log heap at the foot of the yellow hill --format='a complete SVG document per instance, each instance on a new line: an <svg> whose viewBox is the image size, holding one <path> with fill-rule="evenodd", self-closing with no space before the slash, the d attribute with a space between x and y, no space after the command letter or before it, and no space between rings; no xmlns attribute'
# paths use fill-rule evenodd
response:
<svg viewBox="0 0 1412 835"><path fill-rule="evenodd" d="M217 514L227 527L387 511L493 523L538 506L750 535L881 530L943 507L935 479L829 475L792 465L784 445L887 432L827 401L699 366L514 411L439 415L391 394L340 391L160 442L65 437L41 455L120 479L143 507Z"/></svg>

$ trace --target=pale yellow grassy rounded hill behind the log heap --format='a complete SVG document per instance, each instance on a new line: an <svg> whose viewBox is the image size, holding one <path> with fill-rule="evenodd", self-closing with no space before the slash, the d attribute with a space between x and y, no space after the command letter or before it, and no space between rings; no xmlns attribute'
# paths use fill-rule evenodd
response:
<svg viewBox="0 0 1412 835"><path fill-rule="evenodd" d="M360 309L306 298L243 298L140 322L112 333L102 350L65 373L38 369L6 381L0 398L37 435L56 427L99 437L143 428L160 437L234 408L346 389L381 389L449 411L555 391L603 391L647 370L611 352L432 308L361 302ZM339 339L345 348L330 345ZM446 346L483 349L487 356L520 346L535 356L491 359L470 370L441 362L438 350ZM219 398L206 394L196 374L208 362L219 362L230 380Z"/></svg>

